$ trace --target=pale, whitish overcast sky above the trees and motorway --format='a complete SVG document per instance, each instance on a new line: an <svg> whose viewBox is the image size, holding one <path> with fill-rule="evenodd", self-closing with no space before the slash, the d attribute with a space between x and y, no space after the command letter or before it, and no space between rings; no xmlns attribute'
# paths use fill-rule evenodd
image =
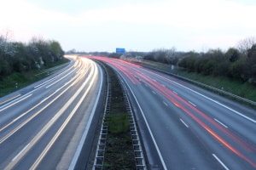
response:
<svg viewBox="0 0 256 170"><path fill-rule="evenodd" d="M65 50L227 50L256 37L255 0L0 0L0 34Z"/></svg>

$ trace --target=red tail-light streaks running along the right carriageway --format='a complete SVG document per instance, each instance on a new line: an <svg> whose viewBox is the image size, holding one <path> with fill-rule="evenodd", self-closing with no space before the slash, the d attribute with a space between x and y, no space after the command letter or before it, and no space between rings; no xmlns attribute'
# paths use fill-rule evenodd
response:
<svg viewBox="0 0 256 170"><path fill-rule="evenodd" d="M207 116L205 113L203 113L202 111L197 109L195 107L195 105L192 105L188 101L182 99L181 97L179 97L177 95L177 93L173 92L169 88L161 86L160 82L156 82L152 78L150 78L148 76L145 76L142 73L138 73L139 71L136 71L136 69L138 68L137 65L133 65L133 67L131 66L130 63L128 63L127 65L123 65L123 63L125 63L125 61L119 61L118 62L117 59L106 59L106 58L99 58L99 59L101 59L101 60L107 62L108 64L113 65L114 67L116 67L119 71L124 73L125 77L127 77L129 80L131 80L131 82L134 85L136 85L136 84L139 85L140 84L140 83L136 82L137 78L139 78L142 82L146 82L149 87L154 89L154 91L157 91L159 94L162 94L163 96L165 96L166 99L171 101L173 105L176 105L184 113L189 115L193 120L195 120L195 122L197 122L201 127L203 127L203 129L205 129L207 131L207 133L211 134L212 137L217 139L221 144L224 144L224 146L227 149L229 149L230 151L235 153L236 156L241 157L241 159L243 159L244 161L247 161L254 168L256 168L256 163L255 162L253 162L252 160L247 158L247 156L242 154L241 151L236 150L236 148L233 145L229 144L225 139L223 139L221 136L219 136L218 133L213 131L210 127L207 126L207 124L202 122L197 116L195 116L191 111L189 111L183 105L185 105L186 107L188 107L192 111L195 111L195 113L198 114L198 116L201 116L202 118L207 120L207 122L210 122L213 127L217 127L221 132L224 132L228 137L230 137L230 139L232 139L237 144L239 144L247 152L254 152L256 149L251 144L247 144L246 141L237 137L234 133L231 133L230 130L228 130L227 128L221 126L218 122L213 121L213 119L211 117ZM135 74L136 74L137 78L134 76Z"/></svg>

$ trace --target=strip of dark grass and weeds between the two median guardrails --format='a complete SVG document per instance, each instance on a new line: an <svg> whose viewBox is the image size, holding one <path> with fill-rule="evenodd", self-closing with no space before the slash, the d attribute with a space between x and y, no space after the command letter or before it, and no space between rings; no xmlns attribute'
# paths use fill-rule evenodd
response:
<svg viewBox="0 0 256 170"><path fill-rule="evenodd" d="M103 169L136 169L131 141L130 121L119 79L106 65L111 78L111 108L107 115L108 138Z"/></svg>

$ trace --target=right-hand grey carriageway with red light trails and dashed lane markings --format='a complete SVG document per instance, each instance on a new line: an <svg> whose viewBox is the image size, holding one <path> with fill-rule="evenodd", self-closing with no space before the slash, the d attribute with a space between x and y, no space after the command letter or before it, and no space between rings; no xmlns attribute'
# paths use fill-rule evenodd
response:
<svg viewBox="0 0 256 170"><path fill-rule="evenodd" d="M119 59L148 169L256 169L256 111Z"/></svg>

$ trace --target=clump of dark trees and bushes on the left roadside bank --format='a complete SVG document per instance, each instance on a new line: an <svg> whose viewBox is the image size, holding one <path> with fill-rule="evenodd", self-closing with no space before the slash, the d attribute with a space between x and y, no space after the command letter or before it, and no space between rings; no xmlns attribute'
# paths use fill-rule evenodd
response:
<svg viewBox="0 0 256 170"><path fill-rule="evenodd" d="M33 37L28 43L11 42L0 36L0 80L13 72L50 66L63 58L59 42Z"/></svg>

